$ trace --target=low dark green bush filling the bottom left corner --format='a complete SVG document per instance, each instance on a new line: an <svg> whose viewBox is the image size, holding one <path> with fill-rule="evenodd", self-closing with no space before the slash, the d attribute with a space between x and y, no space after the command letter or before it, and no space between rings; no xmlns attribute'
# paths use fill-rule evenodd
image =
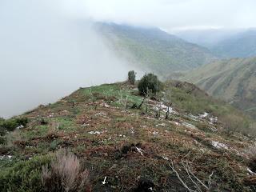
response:
<svg viewBox="0 0 256 192"><path fill-rule="evenodd" d="M42 191L42 166L50 162L49 156L35 157L0 170L0 189L6 192Z"/></svg>

